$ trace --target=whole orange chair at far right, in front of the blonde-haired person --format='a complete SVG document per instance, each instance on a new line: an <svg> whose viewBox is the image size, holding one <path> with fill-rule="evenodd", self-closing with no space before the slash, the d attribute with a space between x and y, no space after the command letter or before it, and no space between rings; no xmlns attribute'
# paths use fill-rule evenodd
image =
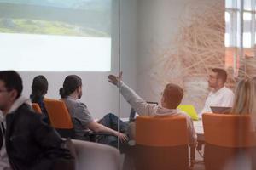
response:
<svg viewBox="0 0 256 170"><path fill-rule="evenodd" d="M207 170L256 169L255 131L250 116L206 113L202 121Z"/></svg>

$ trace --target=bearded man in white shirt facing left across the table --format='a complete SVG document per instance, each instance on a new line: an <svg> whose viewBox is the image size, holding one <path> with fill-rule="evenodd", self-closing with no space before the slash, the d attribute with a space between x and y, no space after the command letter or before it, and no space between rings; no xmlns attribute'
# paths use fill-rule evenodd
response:
<svg viewBox="0 0 256 170"><path fill-rule="evenodd" d="M203 113L212 112L210 106L218 107L232 107L234 101L234 93L230 88L224 86L227 81L227 72L224 69L212 68L212 73L209 75L208 85L212 88L210 94L208 94L206 103L200 113L200 117Z"/></svg>

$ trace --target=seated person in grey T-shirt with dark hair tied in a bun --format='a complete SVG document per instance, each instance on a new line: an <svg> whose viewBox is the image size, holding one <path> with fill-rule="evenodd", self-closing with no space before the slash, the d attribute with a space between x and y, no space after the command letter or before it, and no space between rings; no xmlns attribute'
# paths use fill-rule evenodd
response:
<svg viewBox="0 0 256 170"><path fill-rule="evenodd" d="M96 122L90 114L87 106L80 102L82 97L82 79L77 75L69 75L60 88L61 99L67 105L67 110L72 117L73 127L75 131L75 139L88 140L84 136L88 131L111 133L108 136L97 136L96 141L101 144L108 144L117 147L118 136L122 143L128 140L125 132L128 125L118 120L118 117L112 113L108 113L99 122ZM120 133L118 130L118 121L120 122Z"/></svg>

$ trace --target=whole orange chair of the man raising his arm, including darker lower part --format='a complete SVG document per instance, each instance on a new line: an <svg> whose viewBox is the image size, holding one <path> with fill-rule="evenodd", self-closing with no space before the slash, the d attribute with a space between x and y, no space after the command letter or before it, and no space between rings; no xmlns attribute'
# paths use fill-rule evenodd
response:
<svg viewBox="0 0 256 170"><path fill-rule="evenodd" d="M185 117L137 116L134 155L137 169L188 169L188 144Z"/></svg>

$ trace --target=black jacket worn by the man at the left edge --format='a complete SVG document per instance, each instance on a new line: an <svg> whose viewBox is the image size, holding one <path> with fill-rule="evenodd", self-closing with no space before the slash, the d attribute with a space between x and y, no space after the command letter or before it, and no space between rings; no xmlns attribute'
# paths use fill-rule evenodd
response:
<svg viewBox="0 0 256 170"><path fill-rule="evenodd" d="M62 142L55 129L26 104L6 116L5 139L9 162L14 170L39 169L38 165L44 165L44 153L60 147ZM49 164L45 163L45 166Z"/></svg>

